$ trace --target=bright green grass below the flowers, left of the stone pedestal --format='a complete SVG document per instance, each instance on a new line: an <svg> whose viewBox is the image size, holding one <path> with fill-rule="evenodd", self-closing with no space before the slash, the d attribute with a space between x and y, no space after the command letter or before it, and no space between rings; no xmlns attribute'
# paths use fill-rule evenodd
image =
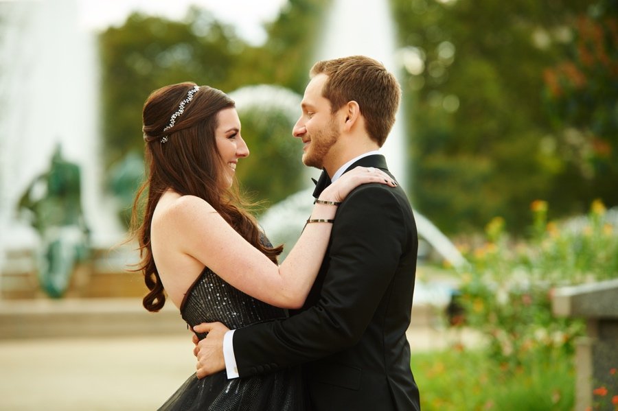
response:
<svg viewBox="0 0 618 411"><path fill-rule="evenodd" d="M516 368L459 348L414 354L411 366L424 411L573 410L573 358L556 350L530 353Z"/></svg>

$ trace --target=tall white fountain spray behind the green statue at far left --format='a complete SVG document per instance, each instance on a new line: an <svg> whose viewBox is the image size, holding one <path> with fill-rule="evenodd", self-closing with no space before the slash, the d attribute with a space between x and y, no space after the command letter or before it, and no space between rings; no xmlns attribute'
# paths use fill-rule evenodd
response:
<svg viewBox="0 0 618 411"><path fill-rule="evenodd" d="M0 2L0 272L12 251L38 246L16 208L57 145L80 167L91 246L122 236L102 196L95 38L78 27L77 10L76 0Z"/></svg>

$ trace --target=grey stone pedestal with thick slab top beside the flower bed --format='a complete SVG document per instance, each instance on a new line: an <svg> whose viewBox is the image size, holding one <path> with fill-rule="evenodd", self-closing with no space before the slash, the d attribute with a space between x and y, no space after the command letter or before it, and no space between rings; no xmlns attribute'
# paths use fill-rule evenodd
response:
<svg viewBox="0 0 618 411"><path fill-rule="evenodd" d="M618 279L562 287L553 295L553 314L584 318L586 336L575 353L575 410L610 410L618 395ZM595 395L593 391L604 387ZM598 408L597 408L598 406Z"/></svg>

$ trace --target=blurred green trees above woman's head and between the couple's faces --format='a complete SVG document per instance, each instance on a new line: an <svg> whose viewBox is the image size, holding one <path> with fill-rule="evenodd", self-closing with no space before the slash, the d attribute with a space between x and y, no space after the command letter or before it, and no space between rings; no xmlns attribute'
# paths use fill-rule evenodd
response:
<svg viewBox="0 0 618 411"><path fill-rule="evenodd" d="M268 40L259 47L196 7L183 21L134 13L122 26L100 34L104 163L108 187L122 203L123 220L130 202L122 187L134 187L142 174L122 170L127 158L133 164L135 153L143 152L141 109L148 95L183 81L227 93L249 84L279 84L302 93L312 64L312 34L319 28L324 5L324 0L291 0L266 27ZM255 192L255 200L274 202L304 187L300 144L294 150L290 137L293 124L277 113L240 119L253 153L238 167L244 189Z"/></svg>

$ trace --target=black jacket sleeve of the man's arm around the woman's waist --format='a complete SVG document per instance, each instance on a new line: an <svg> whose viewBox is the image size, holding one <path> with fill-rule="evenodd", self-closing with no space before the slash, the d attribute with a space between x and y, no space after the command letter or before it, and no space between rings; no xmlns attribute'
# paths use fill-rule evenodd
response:
<svg viewBox="0 0 618 411"><path fill-rule="evenodd" d="M369 184L350 193L336 214L317 304L236 330L240 377L317 360L360 340L407 248L405 224L393 189Z"/></svg>

